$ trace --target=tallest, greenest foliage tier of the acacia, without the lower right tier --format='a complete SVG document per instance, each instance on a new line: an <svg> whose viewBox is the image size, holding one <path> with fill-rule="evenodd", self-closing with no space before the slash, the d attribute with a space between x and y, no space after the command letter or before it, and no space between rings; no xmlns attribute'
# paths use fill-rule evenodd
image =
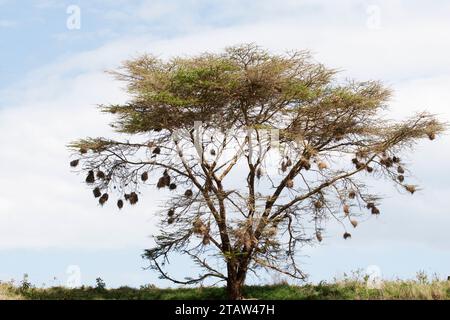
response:
<svg viewBox="0 0 450 320"><path fill-rule="evenodd" d="M169 62L144 56L123 69L115 75L128 83L133 99L103 110L118 114L117 129L127 133L191 127L193 121L227 129L279 127L280 112L313 103L330 90L335 73L307 52L270 55L253 45Z"/></svg>

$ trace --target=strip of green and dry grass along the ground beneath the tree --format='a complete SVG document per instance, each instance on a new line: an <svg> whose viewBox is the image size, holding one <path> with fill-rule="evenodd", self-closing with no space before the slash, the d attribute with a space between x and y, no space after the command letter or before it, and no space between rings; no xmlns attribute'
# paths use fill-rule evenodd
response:
<svg viewBox="0 0 450 320"><path fill-rule="evenodd" d="M122 287L107 289L103 283L96 287L82 287L80 289L35 288L27 282L17 287L11 283L0 284L0 299L139 299L139 300L204 300L225 299L224 288L179 288L158 289L152 286L139 289ZM368 289L362 280L345 279L333 283L318 285L291 286L287 284L270 286L248 286L245 288L248 299L268 300L378 300L378 299L421 299L421 300L450 300L450 281L427 279L397 280L384 282L380 289Z"/></svg>

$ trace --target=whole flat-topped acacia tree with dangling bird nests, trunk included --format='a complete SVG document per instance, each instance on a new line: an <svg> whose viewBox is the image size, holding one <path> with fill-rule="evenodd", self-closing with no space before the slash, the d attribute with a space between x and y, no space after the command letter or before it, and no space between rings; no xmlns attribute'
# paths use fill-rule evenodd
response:
<svg viewBox="0 0 450 320"><path fill-rule="evenodd" d="M231 299L242 298L249 271L303 279L297 249L322 241L327 219L348 239L358 217L379 215L380 197L365 181L388 179L413 194L402 153L445 129L427 113L386 119L389 89L338 83L305 51L241 45L170 61L146 55L114 74L130 101L100 107L125 137L73 142L71 166L87 173L101 205L113 195L120 209L135 205L143 185L168 190L144 257L175 283L226 281ZM204 272L173 278L165 268L173 253Z"/></svg>

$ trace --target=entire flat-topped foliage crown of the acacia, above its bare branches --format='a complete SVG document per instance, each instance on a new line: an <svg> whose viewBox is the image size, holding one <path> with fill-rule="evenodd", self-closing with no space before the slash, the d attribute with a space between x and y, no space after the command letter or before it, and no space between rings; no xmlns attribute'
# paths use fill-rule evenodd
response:
<svg viewBox="0 0 450 320"><path fill-rule="evenodd" d="M115 114L114 127L130 134L191 128L194 121L280 129L283 140L386 134L389 125L377 114L390 90L375 81L336 84L335 73L307 51L271 55L255 45L169 62L145 55L114 72L132 101L102 111Z"/></svg>

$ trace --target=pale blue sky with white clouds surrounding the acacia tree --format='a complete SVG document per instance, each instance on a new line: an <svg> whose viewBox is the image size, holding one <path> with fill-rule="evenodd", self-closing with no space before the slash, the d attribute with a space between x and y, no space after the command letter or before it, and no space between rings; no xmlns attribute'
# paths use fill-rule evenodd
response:
<svg viewBox="0 0 450 320"><path fill-rule="evenodd" d="M101 209L67 166L68 142L109 133L95 106L127 99L105 70L144 52L310 49L342 78L391 87L392 117L427 110L448 121L449 16L444 0L0 0L0 280L28 273L37 285L64 284L77 266L85 284L169 285L140 258L161 195L149 189L132 210ZM302 252L311 281L373 265L386 278L450 275L449 142L408 157L422 186L414 197L376 183L383 214L351 241L330 222L325 241Z"/></svg>

